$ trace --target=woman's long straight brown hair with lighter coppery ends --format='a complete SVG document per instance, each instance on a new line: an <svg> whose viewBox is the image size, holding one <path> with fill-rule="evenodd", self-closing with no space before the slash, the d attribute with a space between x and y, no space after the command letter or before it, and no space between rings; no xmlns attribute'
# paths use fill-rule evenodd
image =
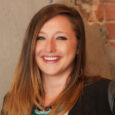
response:
<svg viewBox="0 0 115 115"><path fill-rule="evenodd" d="M51 115L63 108L61 114L69 111L77 101L83 88L85 68L85 32L79 12L62 4L51 4L42 8L32 18L21 50L14 79L7 93L2 115L31 115L34 106L42 108L44 88L39 67L35 61L35 46L41 27L56 15L66 16L72 23L78 40L78 51L74 61L71 79L65 89L56 98Z"/></svg>

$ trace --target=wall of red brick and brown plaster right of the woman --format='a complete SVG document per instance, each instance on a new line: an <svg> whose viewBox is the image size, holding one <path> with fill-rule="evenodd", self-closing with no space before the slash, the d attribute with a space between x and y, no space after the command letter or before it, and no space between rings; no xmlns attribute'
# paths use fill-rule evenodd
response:
<svg viewBox="0 0 115 115"><path fill-rule="evenodd" d="M115 0L69 0L83 16L86 74L115 80Z"/></svg>

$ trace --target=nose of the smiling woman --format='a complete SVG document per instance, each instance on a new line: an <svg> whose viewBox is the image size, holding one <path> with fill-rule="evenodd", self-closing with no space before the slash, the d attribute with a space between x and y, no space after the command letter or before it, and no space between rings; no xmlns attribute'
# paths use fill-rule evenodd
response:
<svg viewBox="0 0 115 115"><path fill-rule="evenodd" d="M46 52L52 53L56 51L56 43L54 39L49 39L45 47Z"/></svg>

